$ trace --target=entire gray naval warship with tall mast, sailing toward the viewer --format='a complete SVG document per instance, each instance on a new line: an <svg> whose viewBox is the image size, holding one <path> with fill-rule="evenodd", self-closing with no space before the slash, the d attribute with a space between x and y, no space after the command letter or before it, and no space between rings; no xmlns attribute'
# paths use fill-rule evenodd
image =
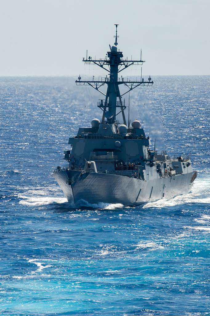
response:
<svg viewBox="0 0 210 316"><path fill-rule="evenodd" d="M119 73L131 65L142 65L139 60L123 57L118 49L118 24L115 42L109 45L105 58L92 59L86 52L85 64L95 64L108 72L101 80L81 80L76 85L88 85L104 95L97 106L102 119L92 119L91 127L79 128L70 137L69 150L64 151L65 167L53 172L67 200L73 204L121 203L138 205L159 199L168 199L190 192L196 171L193 172L190 156L171 158L166 151L150 149L147 137L138 119L130 126L125 118L125 100L122 96L137 87L151 87L149 76L145 81L119 77ZM141 54L142 55L142 54ZM120 94L119 86L126 91ZM100 87L107 87L106 94ZM119 122L119 114L123 122Z"/></svg>

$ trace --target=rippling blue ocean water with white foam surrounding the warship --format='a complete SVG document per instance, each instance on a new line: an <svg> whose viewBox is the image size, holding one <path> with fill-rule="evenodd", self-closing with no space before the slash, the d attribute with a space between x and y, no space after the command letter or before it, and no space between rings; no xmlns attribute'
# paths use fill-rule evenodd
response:
<svg viewBox="0 0 210 316"><path fill-rule="evenodd" d="M154 81L131 116L159 149L191 153L192 191L73 208L51 173L100 118L97 94L74 78L0 78L0 315L210 315L210 76Z"/></svg>

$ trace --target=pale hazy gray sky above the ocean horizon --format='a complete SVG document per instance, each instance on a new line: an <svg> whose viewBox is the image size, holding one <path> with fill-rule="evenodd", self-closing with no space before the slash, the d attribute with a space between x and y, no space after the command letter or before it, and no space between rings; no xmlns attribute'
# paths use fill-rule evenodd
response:
<svg viewBox="0 0 210 316"><path fill-rule="evenodd" d="M209 12L210 0L0 0L0 76L102 74L81 59L105 56L114 23L143 73L209 75Z"/></svg>

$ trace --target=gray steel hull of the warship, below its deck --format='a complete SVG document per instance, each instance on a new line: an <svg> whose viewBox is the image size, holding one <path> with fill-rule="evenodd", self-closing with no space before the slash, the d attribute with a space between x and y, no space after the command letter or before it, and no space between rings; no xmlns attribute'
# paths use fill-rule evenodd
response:
<svg viewBox="0 0 210 316"><path fill-rule="evenodd" d="M53 177L70 203L138 205L189 193L192 174L143 181L113 174L62 170L53 173Z"/></svg>

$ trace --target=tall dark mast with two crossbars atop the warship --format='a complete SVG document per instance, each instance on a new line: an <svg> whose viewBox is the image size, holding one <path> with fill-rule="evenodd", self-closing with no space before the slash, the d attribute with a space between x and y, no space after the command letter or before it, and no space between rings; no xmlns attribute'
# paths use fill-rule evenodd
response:
<svg viewBox="0 0 210 316"><path fill-rule="evenodd" d="M88 57L86 55L86 59L83 58L83 61L85 64L96 64L102 69L109 72L109 77L102 77L101 80L85 80L82 81L81 77L79 75L78 80L76 80L77 85L90 85L92 88L99 91L101 94L105 96L105 100L101 100L98 102L98 107L100 107L103 111L102 116L102 122L105 121L105 118L107 119L108 124L113 124L116 122L116 116L122 112L123 117L123 124L126 125L126 119L125 119L125 113L124 110L126 108L125 104L122 102L122 96L134 88L137 88L139 86L152 86L153 81L151 81L151 77L149 76L148 81L144 81L143 78L141 78L141 81L131 81L128 78L118 78L118 74L120 71L128 68L131 65L142 65L145 61L143 60L128 60L128 58L123 58L122 52L118 49L117 45L117 27L119 24L114 24L116 27L116 34L114 35L115 42L114 45L110 47L110 52L107 52L105 58L100 59L92 59L92 57ZM107 93L104 94L100 89L100 87L107 84ZM128 90L120 94L119 85L124 84L128 88ZM119 112L117 112L117 108L119 108ZM128 122L129 123L129 122Z"/></svg>

